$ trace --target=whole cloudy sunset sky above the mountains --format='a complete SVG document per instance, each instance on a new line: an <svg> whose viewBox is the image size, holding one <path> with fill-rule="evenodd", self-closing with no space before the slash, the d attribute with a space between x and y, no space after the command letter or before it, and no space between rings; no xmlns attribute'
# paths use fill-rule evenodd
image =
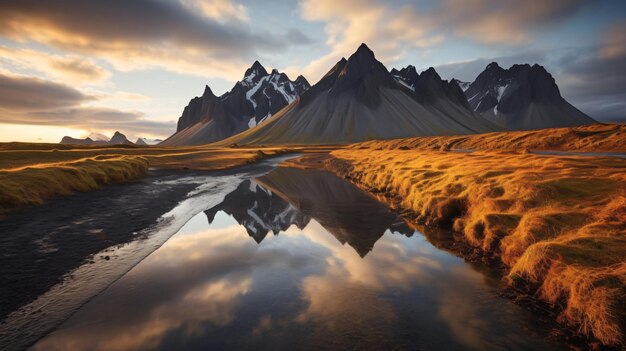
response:
<svg viewBox="0 0 626 351"><path fill-rule="evenodd" d="M361 43L462 81L537 63L583 112L626 121L623 0L2 0L0 141L165 138L255 60L314 84Z"/></svg>

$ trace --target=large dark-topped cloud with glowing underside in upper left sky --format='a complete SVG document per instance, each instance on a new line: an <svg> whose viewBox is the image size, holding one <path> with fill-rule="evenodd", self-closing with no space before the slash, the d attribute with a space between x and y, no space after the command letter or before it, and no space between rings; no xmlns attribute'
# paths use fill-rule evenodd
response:
<svg viewBox="0 0 626 351"><path fill-rule="evenodd" d="M288 35L253 31L245 13L226 0L8 0L0 5L0 35L98 56L119 70L231 79L260 51L297 44Z"/></svg>

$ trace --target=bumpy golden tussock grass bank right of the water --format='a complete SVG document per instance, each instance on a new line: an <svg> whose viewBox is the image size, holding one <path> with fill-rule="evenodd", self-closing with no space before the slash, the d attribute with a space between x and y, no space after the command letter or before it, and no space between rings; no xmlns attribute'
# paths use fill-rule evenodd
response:
<svg viewBox="0 0 626 351"><path fill-rule="evenodd" d="M396 141L391 141L392 143ZM623 343L626 160L355 144L322 164L415 221L449 227L506 279L604 344ZM318 164L320 164L318 162Z"/></svg>

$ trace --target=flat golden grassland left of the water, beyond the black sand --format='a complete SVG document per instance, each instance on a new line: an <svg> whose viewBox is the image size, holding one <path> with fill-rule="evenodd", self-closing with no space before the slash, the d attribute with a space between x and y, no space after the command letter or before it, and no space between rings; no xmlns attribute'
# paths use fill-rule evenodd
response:
<svg viewBox="0 0 626 351"><path fill-rule="evenodd" d="M149 167L220 170L289 151L285 148L84 147L0 144L0 214L46 199L143 177Z"/></svg>

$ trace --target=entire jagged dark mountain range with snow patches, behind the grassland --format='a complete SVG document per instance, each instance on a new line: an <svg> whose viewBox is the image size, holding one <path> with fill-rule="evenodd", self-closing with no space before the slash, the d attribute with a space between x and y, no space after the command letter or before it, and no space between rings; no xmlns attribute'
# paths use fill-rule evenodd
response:
<svg viewBox="0 0 626 351"><path fill-rule="evenodd" d="M278 77L290 94L270 84ZM446 81L432 67L388 71L362 44L312 87L302 76L287 83L255 62L230 92L218 98L207 86L192 99L163 144L334 144L595 123L539 65L492 63L474 82Z"/></svg>

